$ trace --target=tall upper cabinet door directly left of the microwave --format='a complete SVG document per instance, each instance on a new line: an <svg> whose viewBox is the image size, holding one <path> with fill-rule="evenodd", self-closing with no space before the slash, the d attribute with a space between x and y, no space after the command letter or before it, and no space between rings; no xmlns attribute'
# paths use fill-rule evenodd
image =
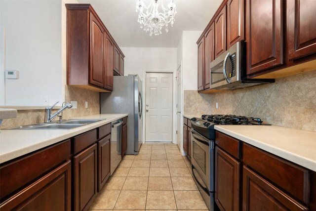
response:
<svg viewBox="0 0 316 211"><path fill-rule="evenodd" d="M205 33L205 69L204 69L204 89L208 89L210 85L209 63L214 59L214 23Z"/></svg>

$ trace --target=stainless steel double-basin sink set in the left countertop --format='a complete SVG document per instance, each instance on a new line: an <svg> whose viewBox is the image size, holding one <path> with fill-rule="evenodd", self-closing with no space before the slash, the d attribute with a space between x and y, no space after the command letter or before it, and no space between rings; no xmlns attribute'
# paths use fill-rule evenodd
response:
<svg viewBox="0 0 316 211"><path fill-rule="evenodd" d="M96 123L105 119L66 119L61 122L41 123L27 126L10 127L5 129L73 129Z"/></svg>

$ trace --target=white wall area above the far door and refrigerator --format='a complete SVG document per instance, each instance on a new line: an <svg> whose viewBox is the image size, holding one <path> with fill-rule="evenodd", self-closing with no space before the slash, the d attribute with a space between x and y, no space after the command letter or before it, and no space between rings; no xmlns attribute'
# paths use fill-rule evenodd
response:
<svg viewBox="0 0 316 211"><path fill-rule="evenodd" d="M143 80L143 70L168 70L177 68L175 47L120 47L125 55L124 75L138 74Z"/></svg>

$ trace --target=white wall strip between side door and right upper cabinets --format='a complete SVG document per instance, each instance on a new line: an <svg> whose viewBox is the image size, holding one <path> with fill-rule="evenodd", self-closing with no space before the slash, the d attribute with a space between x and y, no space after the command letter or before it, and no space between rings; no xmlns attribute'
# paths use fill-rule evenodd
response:
<svg viewBox="0 0 316 211"><path fill-rule="evenodd" d="M184 31L182 34L183 90L197 90L197 39L202 31Z"/></svg>

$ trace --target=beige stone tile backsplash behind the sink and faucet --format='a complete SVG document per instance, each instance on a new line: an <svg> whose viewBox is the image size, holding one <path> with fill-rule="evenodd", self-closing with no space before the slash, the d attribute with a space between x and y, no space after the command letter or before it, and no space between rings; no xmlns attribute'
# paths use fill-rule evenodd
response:
<svg viewBox="0 0 316 211"><path fill-rule="evenodd" d="M66 109L63 112L63 118L73 118L100 113L100 93L90 91L75 86L65 85L65 101L77 101L78 109ZM88 108L85 108L85 101L88 102ZM52 113L56 112L53 110ZM42 110L18 110L18 117L15 119L3 120L1 129L7 127L16 127L31 125L44 122L44 109ZM58 117L56 117L56 120Z"/></svg>

